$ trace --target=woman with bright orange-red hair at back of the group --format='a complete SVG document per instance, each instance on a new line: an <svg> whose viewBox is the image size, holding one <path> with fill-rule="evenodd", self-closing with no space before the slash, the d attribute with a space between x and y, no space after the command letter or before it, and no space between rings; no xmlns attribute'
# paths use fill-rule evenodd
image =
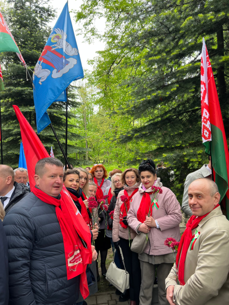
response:
<svg viewBox="0 0 229 305"><path fill-rule="evenodd" d="M90 173L94 175L94 182L97 185L96 191L96 198L102 199L105 193L105 189L107 186L111 184L111 181L107 180L107 171L102 164L96 164L90 170ZM95 248L100 257L101 257L101 272L103 276L106 276L107 269L106 269L106 258L107 258L107 250L111 248L111 241L105 235L105 228L106 228L106 214L103 211L101 213L104 217L104 220L100 222L100 230L98 238L95 240ZM98 263L96 264L97 267L97 279L99 280L99 271L98 271Z"/></svg>

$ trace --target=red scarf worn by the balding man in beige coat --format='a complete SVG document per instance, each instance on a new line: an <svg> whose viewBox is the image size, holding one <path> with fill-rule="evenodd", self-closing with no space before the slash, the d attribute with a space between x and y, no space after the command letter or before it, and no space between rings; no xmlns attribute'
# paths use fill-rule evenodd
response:
<svg viewBox="0 0 229 305"><path fill-rule="evenodd" d="M217 206L220 206L220 205L217 204L214 207L214 209ZM211 212L209 212L209 213L211 213ZM178 263L179 263L178 280L180 282L180 285L184 286L184 284L185 284L185 282L184 282L184 262L185 262L188 247L190 246L190 242L192 240L192 230L197 228L199 222L202 221L202 219L204 217L206 217L209 213L207 213L203 216L200 216L200 217L196 217L195 215L192 215L186 224L186 229L185 229L183 235L181 236L180 243L179 243L178 250L177 250L177 255L176 255L176 266L178 266ZM179 262L179 259L180 259L180 262Z"/></svg>

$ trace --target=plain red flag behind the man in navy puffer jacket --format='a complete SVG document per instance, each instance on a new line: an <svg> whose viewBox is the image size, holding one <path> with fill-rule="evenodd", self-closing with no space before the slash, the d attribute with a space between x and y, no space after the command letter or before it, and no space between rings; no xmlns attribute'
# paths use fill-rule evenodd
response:
<svg viewBox="0 0 229 305"><path fill-rule="evenodd" d="M17 119L20 123L21 138L24 147L25 159L27 163L27 170L29 175L29 182L31 189L35 186L35 165L38 160L42 158L49 157L49 154L42 142L36 135L33 128L30 126L24 115L20 112L18 106L13 105L14 111L16 113ZM65 186L63 186L60 192L61 197L65 202L67 202L77 217L77 221L73 222L74 228L77 231L80 238L85 242L86 248L82 249L82 258L84 262L84 272L81 273L80 281L80 292L85 299L89 295L87 277L86 277L86 266L92 262L92 251L91 251L91 233L89 227L85 223L83 217L79 213L77 207L73 203L69 193L67 192ZM70 266L70 265L69 265ZM67 266L68 267L68 266Z"/></svg>

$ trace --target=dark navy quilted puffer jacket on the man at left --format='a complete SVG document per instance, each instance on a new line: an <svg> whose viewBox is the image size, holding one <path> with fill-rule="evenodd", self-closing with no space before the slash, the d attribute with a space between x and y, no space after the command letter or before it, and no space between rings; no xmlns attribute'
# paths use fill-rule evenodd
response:
<svg viewBox="0 0 229 305"><path fill-rule="evenodd" d="M9 305L72 305L79 276L67 280L56 207L33 193L13 206L3 226L9 248Z"/></svg>

